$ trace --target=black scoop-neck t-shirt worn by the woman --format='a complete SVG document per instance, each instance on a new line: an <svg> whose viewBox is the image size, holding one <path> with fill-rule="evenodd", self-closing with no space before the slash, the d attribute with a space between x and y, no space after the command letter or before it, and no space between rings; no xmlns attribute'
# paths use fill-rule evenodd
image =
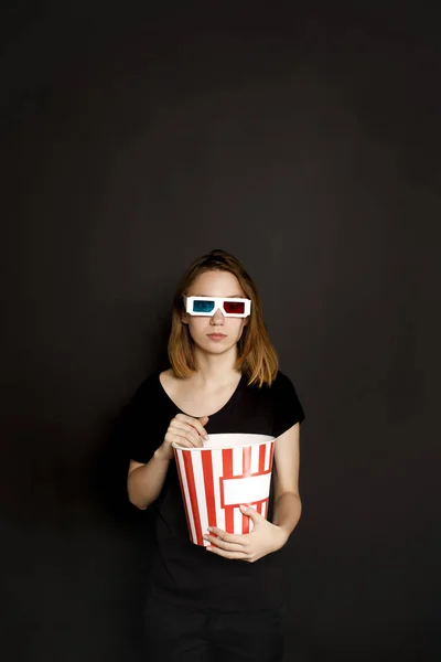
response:
<svg viewBox="0 0 441 662"><path fill-rule="evenodd" d="M159 373L148 377L123 416L130 458L148 462L179 412L162 387ZM241 433L278 437L303 418L293 384L279 372L271 386L262 387L248 386L243 376L230 399L209 416L205 429L208 435ZM176 605L226 611L271 609L283 601L281 551L250 564L222 558L190 541L174 460L154 508L158 543L151 570L154 591ZM272 485L268 520L271 517Z"/></svg>

